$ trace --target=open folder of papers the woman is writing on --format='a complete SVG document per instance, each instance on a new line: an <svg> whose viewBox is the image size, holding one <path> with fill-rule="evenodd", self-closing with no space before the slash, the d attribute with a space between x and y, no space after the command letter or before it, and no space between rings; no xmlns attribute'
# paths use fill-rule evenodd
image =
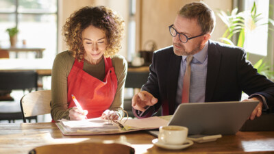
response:
<svg viewBox="0 0 274 154"><path fill-rule="evenodd" d="M64 135L97 135L125 133L129 131L158 129L167 125L168 120L153 116L141 119L116 120L116 123L101 118L91 118L88 120L60 120L56 123Z"/></svg>

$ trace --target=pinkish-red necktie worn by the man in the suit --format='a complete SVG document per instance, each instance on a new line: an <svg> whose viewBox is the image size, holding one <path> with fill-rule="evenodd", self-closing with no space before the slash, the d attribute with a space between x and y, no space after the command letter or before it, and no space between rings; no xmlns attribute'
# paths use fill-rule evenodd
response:
<svg viewBox="0 0 274 154"><path fill-rule="evenodd" d="M184 74L183 80L183 93L182 93L182 103L189 103L189 87L190 87L190 62L193 59L193 55L188 55L186 57L186 73Z"/></svg>

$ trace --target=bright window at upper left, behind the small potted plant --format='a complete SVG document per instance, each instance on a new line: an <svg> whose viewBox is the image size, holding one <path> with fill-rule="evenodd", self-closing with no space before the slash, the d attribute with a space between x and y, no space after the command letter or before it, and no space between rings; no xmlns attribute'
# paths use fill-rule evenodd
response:
<svg viewBox="0 0 274 154"><path fill-rule="evenodd" d="M17 44L45 48L43 58L57 50L58 0L1 0L0 46L10 45L8 28L17 27Z"/></svg>

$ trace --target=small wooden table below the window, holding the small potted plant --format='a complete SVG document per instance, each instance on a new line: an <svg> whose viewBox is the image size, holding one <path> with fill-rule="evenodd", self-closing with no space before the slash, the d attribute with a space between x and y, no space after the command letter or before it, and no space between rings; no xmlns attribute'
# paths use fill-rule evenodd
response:
<svg viewBox="0 0 274 154"><path fill-rule="evenodd" d="M17 58L19 52L35 52L36 58L42 58L42 51L44 50L45 48L29 47L27 45L21 45L21 46L17 45L16 47L0 47L0 55L5 55L5 57L7 57L8 55L6 53L15 52L16 58Z"/></svg>

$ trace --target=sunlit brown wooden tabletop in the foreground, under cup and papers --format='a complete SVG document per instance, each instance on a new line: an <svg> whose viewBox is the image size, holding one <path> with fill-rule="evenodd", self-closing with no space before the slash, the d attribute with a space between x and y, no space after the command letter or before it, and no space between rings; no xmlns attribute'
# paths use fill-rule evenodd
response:
<svg viewBox="0 0 274 154"><path fill-rule="evenodd" d="M105 136L63 136L54 123L0 124L0 153L25 154L48 144L101 142L112 140L132 144L139 153L274 153L274 131L238 132L215 142L194 143L187 149L169 151L154 146L145 131ZM58 152L56 152L58 153Z"/></svg>

